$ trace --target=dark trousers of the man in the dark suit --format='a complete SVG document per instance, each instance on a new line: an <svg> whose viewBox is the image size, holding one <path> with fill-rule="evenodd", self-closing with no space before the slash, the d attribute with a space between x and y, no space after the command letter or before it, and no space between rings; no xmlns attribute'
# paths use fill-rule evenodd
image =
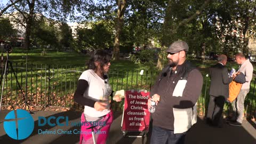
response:
<svg viewBox="0 0 256 144"><path fill-rule="evenodd" d="M209 106L207 110L207 119L211 119L211 122L214 126L223 126L222 112L225 101L226 99L223 96L214 97L210 95Z"/></svg>

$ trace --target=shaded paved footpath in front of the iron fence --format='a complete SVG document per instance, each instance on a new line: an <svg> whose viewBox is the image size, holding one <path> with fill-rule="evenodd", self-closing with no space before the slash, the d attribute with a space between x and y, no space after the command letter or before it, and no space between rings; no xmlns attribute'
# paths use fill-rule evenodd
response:
<svg viewBox="0 0 256 144"><path fill-rule="evenodd" d="M3 121L6 114L9 111L0 111L0 143L79 143L79 134L38 134L38 129L41 130L63 130L63 131L74 131L79 130L78 126L71 126L71 123L79 122L81 117L80 111L36 111L33 116L35 121L35 128L33 133L25 140L13 140L8 135L6 135L3 128ZM38 126L38 116L68 116L69 125L68 126ZM150 141L150 131L145 138L128 138L123 137L123 132L121 131L121 120L122 113L117 111L114 113L114 122L111 125L109 138L107 144L112 143L134 143L143 144L149 143ZM65 121L61 121L65 123ZM252 121L244 120L242 126L230 126L225 125L222 128L211 127L206 125L201 118L198 118L197 124L195 124L186 136L186 144L255 144L256 143L256 123Z"/></svg>

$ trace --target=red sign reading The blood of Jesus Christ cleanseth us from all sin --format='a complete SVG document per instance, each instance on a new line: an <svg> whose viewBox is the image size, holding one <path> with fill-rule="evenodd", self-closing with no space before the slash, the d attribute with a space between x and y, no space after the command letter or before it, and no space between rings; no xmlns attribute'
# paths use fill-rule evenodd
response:
<svg viewBox="0 0 256 144"><path fill-rule="evenodd" d="M125 92L122 131L148 131L150 120L148 99L149 92Z"/></svg>

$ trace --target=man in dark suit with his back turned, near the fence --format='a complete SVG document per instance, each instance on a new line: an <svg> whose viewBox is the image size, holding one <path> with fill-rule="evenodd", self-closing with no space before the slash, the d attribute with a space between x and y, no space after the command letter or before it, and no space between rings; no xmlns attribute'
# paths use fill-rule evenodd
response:
<svg viewBox="0 0 256 144"><path fill-rule="evenodd" d="M206 122L214 126L223 126L223 106L229 97L229 83L232 77L228 76L228 69L225 67L227 56L219 55L218 63L210 68L210 101L207 110Z"/></svg>

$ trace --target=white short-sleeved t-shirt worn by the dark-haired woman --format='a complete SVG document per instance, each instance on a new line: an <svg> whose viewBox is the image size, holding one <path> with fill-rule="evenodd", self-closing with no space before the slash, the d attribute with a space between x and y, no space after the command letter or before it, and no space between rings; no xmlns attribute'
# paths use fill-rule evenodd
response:
<svg viewBox="0 0 256 144"><path fill-rule="evenodd" d="M87 98L93 99L95 101L106 100L112 92L111 86L108 83L108 79L104 80L100 78L92 69L85 70L79 79L84 79L89 83L89 89L85 91ZM107 82L107 84L105 83ZM105 98L105 99L104 99ZM108 103L108 107L109 103ZM91 117L101 117L107 115L110 112L110 109L105 109L103 111L97 111L96 109L84 106L84 114Z"/></svg>

